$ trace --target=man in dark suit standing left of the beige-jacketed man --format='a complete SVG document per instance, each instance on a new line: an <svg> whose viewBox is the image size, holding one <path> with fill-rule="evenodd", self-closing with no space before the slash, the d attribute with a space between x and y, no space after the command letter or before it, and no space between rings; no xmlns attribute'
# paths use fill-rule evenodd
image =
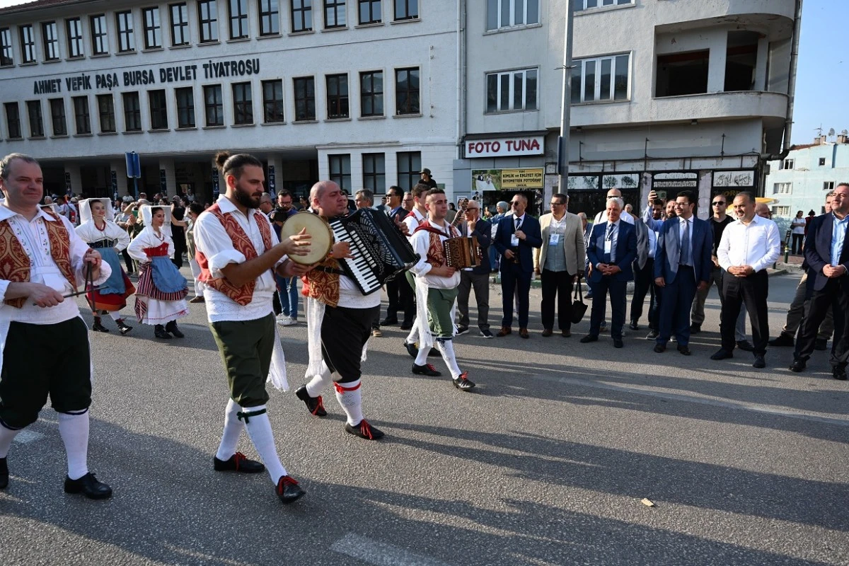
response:
<svg viewBox="0 0 849 566"><path fill-rule="evenodd" d="M498 221L492 244L502 254L501 262L501 305L503 318L497 336L513 332L513 295L519 293L519 335L528 338L528 307L531 300L531 274L533 273L533 249L543 245L539 221L525 214L528 199L515 193L510 202L513 214Z"/></svg>

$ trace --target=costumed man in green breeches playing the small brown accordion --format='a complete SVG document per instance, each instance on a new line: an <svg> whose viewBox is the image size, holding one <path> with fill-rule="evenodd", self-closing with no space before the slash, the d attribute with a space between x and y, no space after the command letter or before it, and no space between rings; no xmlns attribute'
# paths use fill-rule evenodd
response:
<svg viewBox="0 0 849 566"><path fill-rule="evenodd" d="M431 188L427 193L425 208L428 219L419 224L410 241L421 260L413 266L416 275L416 324L419 326L419 354L413 362L413 373L437 377L441 373L427 362L427 353L436 339L454 387L468 391L475 387L469 372L461 372L454 355L454 302L457 300L460 272L445 261L442 242L458 238L457 228L446 221L448 201L445 191Z"/></svg>

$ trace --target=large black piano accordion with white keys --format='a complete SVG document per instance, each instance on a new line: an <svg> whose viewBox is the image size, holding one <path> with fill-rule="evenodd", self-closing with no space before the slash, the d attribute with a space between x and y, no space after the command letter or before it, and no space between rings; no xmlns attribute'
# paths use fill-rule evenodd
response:
<svg viewBox="0 0 849 566"><path fill-rule="evenodd" d="M342 259L340 265L357 283L363 294L374 293L398 273L419 263L419 254L395 222L383 212L358 209L350 216L330 221L337 242L351 245L353 259Z"/></svg>

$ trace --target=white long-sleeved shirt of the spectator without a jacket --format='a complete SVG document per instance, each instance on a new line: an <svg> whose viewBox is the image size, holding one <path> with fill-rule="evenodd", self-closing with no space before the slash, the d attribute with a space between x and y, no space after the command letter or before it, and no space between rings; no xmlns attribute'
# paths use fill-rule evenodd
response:
<svg viewBox="0 0 849 566"><path fill-rule="evenodd" d="M751 266L760 272L773 265L781 253L781 238L775 222L755 215L746 226L734 221L725 227L717 249L719 266Z"/></svg>

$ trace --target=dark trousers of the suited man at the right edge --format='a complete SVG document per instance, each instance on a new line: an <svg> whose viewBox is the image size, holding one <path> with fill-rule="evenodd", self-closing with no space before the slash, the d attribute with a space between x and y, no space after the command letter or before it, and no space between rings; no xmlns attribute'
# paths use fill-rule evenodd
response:
<svg viewBox="0 0 849 566"><path fill-rule="evenodd" d="M796 359L807 360L811 357L813 346L817 342L819 325L832 311L835 322L835 338L831 343L832 367L846 367L849 361L849 328L846 323L846 311L849 311L849 285L843 277L829 279L825 287L811 295L808 311L801 321L799 337L796 339Z"/></svg>

